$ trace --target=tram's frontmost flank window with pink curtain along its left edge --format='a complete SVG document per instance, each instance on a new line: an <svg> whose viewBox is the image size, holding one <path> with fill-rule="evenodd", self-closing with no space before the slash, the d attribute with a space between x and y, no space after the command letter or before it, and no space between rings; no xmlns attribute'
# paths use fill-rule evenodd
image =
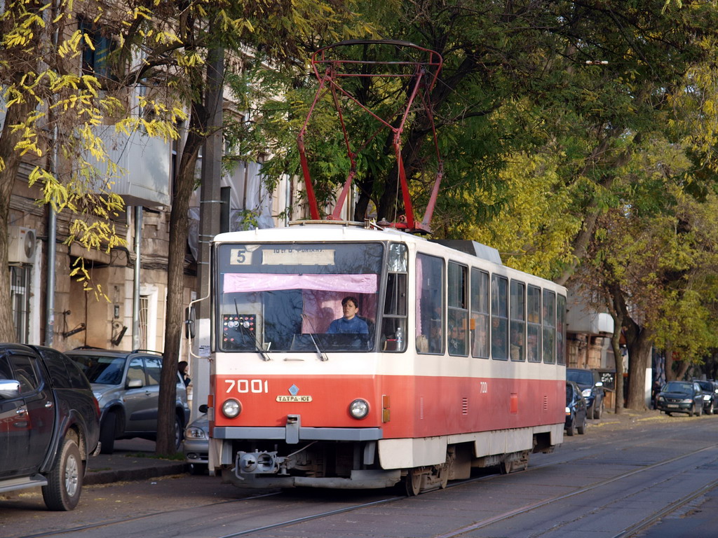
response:
<svg viewBox="0 0 718 538"><path fill-rule="evenodd" d="M416 351L444 352L444 260L416 255Z"/></svg>

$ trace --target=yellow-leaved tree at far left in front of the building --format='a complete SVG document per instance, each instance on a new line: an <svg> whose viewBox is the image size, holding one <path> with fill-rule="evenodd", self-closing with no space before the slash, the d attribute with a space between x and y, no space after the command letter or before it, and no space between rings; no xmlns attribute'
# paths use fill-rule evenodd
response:
<svg viewBox="0 0 718 538"><path fill-rule="evenodd" d="M112 24L113 5L101 1L8 0L0 12L0 85L5 118L0 132L0 230L7 230L9 202L20 165L34 166L28 182L39 187L39 201L67 211L70 236L88 249L110 250L123 244L111 217L123 209L111 185L121 174L108 160L98 134L112 122L117 131L142 129L150 136L175 136L168 117L144 118L131 110L122 93L127 84L108 70L83 67L83 52L97 45L92 28ZM91 20L92 24L79 24ZM134 16L137 16L135 12ZM129 19L133 15L130 14ZM151 105L144 100L141 105ZM0 233L0 265L7 266L8 236ZM85 291L95 287L80 263L73 275ZM0 338L13 341L9 282L0 278Z"/></svg>

